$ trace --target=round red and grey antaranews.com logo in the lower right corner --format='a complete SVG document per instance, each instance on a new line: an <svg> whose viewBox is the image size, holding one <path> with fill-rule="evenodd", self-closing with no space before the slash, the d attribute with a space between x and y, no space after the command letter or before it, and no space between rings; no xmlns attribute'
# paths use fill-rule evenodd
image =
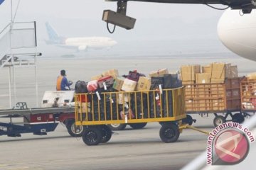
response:
<svg viewBox="0 0 256 170"><path fill-rule="evenodd" d="M255 142L252 132L239 123L223 123L210 132L207 141L207 164L239 164Z"/></svg>

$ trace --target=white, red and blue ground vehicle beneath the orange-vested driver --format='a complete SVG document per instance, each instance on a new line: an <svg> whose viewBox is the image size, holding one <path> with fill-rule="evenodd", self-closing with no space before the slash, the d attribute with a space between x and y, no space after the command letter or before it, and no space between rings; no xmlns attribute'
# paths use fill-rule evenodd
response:
<svg viewBox="0 0 256 170"><path fill-rule="evenodd" d="M75 125L75 106L71 104L73 96L74 91L46 91L41 108L28 108L25 102L18 102L13 109L0 110L0 135L47 135L47 132L55 130L58 123L64 123L70 136L81 136L82 126Z"/></svg>

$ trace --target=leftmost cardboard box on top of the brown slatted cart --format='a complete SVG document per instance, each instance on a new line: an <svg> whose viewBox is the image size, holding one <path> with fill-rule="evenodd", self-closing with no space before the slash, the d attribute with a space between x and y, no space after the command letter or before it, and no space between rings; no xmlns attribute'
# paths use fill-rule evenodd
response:
<svg viewBox="0 0 256 170"><path fill-rule="evenodd" d="M181 66L182 81L195 81L196 73L201 73L201 66L198 64Z"/></svg>

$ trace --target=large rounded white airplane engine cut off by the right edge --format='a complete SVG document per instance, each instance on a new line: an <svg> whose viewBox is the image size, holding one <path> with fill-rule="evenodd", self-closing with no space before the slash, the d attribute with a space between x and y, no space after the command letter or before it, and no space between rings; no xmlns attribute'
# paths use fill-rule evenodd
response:
<svg viewBox="0 0 256 170"><path fill-rule="evenodd" d="M243 14L226 10L218 22L218 37L235 54L256 61L256 10Z"/></svg>

